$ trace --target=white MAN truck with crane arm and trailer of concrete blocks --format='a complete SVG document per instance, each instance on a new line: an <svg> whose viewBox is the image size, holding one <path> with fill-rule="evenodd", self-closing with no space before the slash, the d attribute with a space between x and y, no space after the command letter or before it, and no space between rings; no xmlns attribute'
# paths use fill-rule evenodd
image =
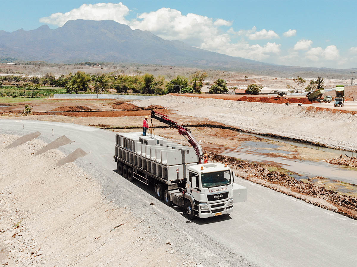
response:
<svg viewBox="0 0 357 267"><path fill-rule="evenodd" d="M176 128L192 147L155 134L117 133L114 160L121 176L154 185L156 197L182 207L188 219L231 213L233 203L247 200L247 188L235 183L227 164L202 164L202 147L189 129L154 110L152 119Z"/></svg>

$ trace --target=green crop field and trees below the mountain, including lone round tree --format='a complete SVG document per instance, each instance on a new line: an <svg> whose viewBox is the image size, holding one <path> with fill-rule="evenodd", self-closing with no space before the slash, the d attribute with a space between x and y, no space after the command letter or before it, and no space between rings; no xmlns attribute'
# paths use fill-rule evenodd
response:
<svg viewBox="0 0 357 267"><path fill-rule="evenodd" d="M88 63L91 64L91 63ZM140 72L141 73L141 72ZM201 93L206 72L196 72L190 78L178 75L165 81L162 76L121 75L114 73L87 74L77 71L55 77L46 73L43 77L21 77L19 75L0 76L3 85L3 95L11 97L37 98L53 96L54 94L146 94L163 95L167 93ZM226 82L218 79L212 86L217 93L226 93Z"/></svg>

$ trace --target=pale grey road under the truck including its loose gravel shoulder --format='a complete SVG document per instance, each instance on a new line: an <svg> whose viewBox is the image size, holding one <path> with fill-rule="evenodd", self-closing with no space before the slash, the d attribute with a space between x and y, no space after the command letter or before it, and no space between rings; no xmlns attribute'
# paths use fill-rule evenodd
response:
<svg viewBox="0 0 357 267"><path fill-rule="evenodd" d="M172 224L176 244L199 255L204 266L351 266L357 261L357 221L342 215L238 178L248 188L247 202L237 203L229 216L190 222L148 187L114 172L114 132L29 120L0 119L0 125L1 133L40 131L38 138L46 142L62 135L75 141L62 150L68 155L79 147L88 153L75 163L97 178L107 198L139 217L145 213L158 232L162 224Z"/></svg>

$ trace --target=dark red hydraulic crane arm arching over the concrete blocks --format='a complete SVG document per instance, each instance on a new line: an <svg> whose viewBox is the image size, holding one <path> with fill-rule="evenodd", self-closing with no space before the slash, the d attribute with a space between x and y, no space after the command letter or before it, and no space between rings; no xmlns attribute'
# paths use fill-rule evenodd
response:
<svg viewBox="0 0 357 267"><path fill-rule="evenodd" d="M203 159L202 147L200 143L197 142L195 137L193 137L191 131L188 128L177 124L176 121L170 120L167 115L161 114L160 112L157 112L155 110L151 110L151 120L152 119L156 119L160 122L169 125L172 128L177 129L178 133L180 133L180 135L183 135L187 139L188 143L190 143L190 145L195 149L196 155L198 156L197 164L202 163L202 159Z"/></svg>

